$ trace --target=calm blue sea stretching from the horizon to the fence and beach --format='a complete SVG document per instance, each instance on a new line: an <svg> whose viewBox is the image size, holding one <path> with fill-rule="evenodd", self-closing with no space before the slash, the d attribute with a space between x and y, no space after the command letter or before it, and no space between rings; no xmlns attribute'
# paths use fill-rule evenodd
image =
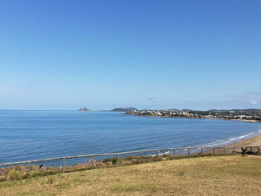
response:
<svg viewBox="0 0 261 196"><path fill-rule="evenodd" d="M122 112L0 110L0 163L168 147L220 146L260 134L260 123Z"/></svg>

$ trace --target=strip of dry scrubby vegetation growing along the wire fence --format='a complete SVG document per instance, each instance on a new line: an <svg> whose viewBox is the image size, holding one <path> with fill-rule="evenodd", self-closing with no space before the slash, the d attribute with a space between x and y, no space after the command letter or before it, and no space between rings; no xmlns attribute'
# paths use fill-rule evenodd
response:
<svg viewBox="0 0 261 196"><path fill-rule="evenodd" d="M247 151L247 148L241 148L242 154L255 154L259 155L259 151L251 152ZM218 149L216 149L218 151ZM247 152L246 152L247 151ZM175 160L175 159L184 159L184 158L197 158L197 157L211 157L211 156L230 156L233 155L231 152L222 153L216 152L212 153L212 149L201 153L194 153L190 155L176 155L171 156L168 154L162 154L157 156L140 156L140 163L149 163L149 162L158 162L164 160ZM103 160L95 160L89 159L87 162L78 162L74 165L66 165L62 166L50 166L50 165L36 165L36 164L18 164L14 166L7 166L0 168L0 181L13 181L13 180L21 180L25 178L32 178L36 176L46 176L46 175L54 175L59 173L68 173L68 172L76 172L76 171L84 171L90 170L94 168L109 168L109 167L116 167L116 166L126 166L126 165L134 165L139 163L138 156L126 156L123 158L118 158L117 156L111 158L105 158ZM30 171L30 172L28 172Z"/></svg>

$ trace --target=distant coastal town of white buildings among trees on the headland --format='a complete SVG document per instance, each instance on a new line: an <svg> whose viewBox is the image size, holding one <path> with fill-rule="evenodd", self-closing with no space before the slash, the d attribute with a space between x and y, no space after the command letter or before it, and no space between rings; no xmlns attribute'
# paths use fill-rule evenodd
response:
<svg viewBox="0 0 261 196"><path fill-rule="evenodd" d="M132 110L125 114L137 116L164 116L185 118L217 118L217 119L246 119L261 122L261 109L234 109L194 111L189 109L164 109L164 110Z"/></svg>

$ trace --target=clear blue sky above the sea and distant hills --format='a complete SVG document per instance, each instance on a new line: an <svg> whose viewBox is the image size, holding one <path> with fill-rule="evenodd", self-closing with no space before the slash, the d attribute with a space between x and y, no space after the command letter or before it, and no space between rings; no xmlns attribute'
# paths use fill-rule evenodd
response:
<svg viewBox="0 0 261 196"><path fill-rule="evenodd" d="M260 0L0 6L0 109L261 108Z"/></svg>

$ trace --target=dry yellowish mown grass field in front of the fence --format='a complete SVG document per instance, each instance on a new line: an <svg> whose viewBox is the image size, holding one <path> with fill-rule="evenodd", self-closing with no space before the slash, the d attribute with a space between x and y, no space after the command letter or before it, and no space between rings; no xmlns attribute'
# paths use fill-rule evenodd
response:
<svg viewBox="0 0 261 196"><path fill-rule="evenodd" d="M3 181L0 195L261 195L261 156L177 159Z"/></svg>

